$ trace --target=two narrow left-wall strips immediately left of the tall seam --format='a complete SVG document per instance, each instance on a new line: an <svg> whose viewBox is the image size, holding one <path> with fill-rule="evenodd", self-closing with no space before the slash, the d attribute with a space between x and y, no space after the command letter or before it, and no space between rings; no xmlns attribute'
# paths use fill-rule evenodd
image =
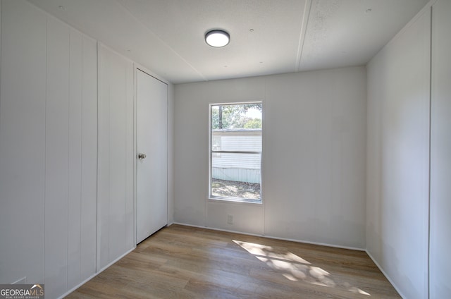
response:
<svg viewBox="0 0 451 299"><path fill-rule="evenodd" d="M96 271L97 42L70 30L68 288Z"/></svg>

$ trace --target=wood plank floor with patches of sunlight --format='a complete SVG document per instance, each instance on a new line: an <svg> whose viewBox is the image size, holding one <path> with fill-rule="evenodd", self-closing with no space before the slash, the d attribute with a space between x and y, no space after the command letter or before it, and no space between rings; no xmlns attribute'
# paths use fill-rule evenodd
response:
<svg viewBox="0 0 451 299"><path fill-rule="evenodd" d="M67 298L400 298L366 252L171 225Z"/></svg>

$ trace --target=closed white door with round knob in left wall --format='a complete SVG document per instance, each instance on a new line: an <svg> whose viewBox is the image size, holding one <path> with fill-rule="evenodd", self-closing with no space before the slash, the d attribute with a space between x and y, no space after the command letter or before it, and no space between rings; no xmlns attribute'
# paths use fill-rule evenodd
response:
<svg viewBox="0 0 451 299"><path fill-rule="evenodd" d="M168 85L137 70L137 243L168 224Z"/></svg>

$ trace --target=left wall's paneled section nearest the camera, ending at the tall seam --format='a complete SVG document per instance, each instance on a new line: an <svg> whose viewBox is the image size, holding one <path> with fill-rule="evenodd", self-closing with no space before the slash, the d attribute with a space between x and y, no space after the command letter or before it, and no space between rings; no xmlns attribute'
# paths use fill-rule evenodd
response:
<svg viewBox="0 0 451 299"><path fill-rule="evenodd" d="M2 1L0 283L55 298L96 271L97 44Z"/></svg>

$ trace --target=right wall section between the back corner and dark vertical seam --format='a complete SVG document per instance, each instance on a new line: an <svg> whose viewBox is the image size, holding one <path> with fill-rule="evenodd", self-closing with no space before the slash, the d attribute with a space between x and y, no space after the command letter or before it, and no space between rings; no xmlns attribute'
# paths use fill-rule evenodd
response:
<svg viewBox="0 0 451 299"><path fill-rule="evenodd" d="M366 248L404 298L428 296L430 11L367 66Z"/></svg>

